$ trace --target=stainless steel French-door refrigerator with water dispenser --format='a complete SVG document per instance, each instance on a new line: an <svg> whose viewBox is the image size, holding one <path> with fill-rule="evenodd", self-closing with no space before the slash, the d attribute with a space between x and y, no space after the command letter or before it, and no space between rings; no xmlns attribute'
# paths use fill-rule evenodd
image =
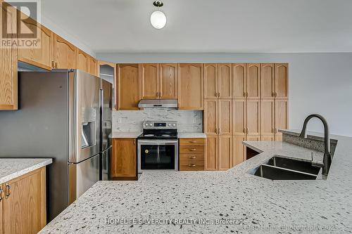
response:
<svg viewBox="0 0 352 234"><path fill-rule="evenodd" d="M0 157L51 157L48 220L99 181L101 79L80 70L18 72L19 110L0 112Z"/></svg>

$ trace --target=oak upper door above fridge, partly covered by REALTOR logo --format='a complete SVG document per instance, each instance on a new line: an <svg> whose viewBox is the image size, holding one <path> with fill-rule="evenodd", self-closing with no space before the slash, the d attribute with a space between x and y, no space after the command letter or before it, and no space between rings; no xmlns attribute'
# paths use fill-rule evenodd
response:
<svg viewBox="0 0 352 234"><path fill-rule="evenodd" d="M37 47L18 48L18 60L37 67L42 67L46 70L51 70L54 33L20 11L18 12L17 23L19 28L23 29L27 27L33 30L33 32L36 30L39 34L39 44Z"/></svg>

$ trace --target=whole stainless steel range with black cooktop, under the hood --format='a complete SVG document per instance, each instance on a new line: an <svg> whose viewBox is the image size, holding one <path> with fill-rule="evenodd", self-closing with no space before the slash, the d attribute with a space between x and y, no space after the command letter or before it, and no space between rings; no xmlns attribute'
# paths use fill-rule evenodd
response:
<svg viewBox="0 0 352 234"><path fill-rule="evenodd" d="M137 142L138 173L178 171L177 122L144 122Z"/></svg>

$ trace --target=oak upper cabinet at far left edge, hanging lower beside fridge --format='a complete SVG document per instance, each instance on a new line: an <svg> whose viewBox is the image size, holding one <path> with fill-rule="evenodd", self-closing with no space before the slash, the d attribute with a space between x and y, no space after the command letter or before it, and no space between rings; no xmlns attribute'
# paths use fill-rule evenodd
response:
<svg viewBox="0 0 352 234"><path fill-rule="evenodd" d="M16 32L16 10L8 7L6 11L6 3L1 3L1 15L7 14L8 32ZM3 39L0 34L1 41ZM13 36L15 39L17 36ZM11 46L0 45L0 110L17 110L18 94L17 94L17 47L15 44Z"/></svg>

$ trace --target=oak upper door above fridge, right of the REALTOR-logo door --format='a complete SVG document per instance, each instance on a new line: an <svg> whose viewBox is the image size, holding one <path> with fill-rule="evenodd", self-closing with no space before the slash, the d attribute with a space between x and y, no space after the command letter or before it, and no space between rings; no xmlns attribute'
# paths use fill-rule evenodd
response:
<svg viewBox="0 0 352 234"><path fill-rule="evenodd" d="M77 60L77 48L62 37L54 34L54 61L55 68L75 69Z"/></svg>

